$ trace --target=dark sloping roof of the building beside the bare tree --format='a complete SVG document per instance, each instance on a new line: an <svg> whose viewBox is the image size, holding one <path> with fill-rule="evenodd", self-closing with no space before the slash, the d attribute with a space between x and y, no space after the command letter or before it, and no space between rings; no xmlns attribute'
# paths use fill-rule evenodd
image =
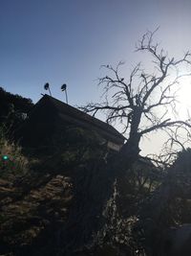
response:
<svg viewBox="0 0 191 256"><path fill-rule="evenodd" d="M113 128L109 124L100 121L99 119L83 111L80 111L72 105L67 105L46 94L40 99L40 101L35 106L37 107L38 105L43 104L43 102L46 102L46 104L50 102L56 108L59 116L65 120L71 121L72 123L76 121L78 122L78 124L81 125L86 123L89 125L89 127L96 128L99 130L101 129L103 132L110 133L110 135L117 137L122 142L124 142L125 140L125 137L122 136L116 128Z"/></svg>

